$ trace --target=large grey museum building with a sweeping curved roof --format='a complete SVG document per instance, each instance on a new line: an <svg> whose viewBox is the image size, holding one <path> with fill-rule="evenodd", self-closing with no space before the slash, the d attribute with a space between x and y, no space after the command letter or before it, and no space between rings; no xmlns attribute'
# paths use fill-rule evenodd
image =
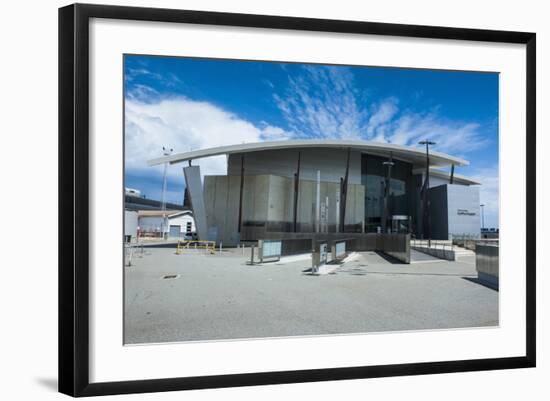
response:
<svg viewBox="0 0 550 401"><path fill-rule="evenodd" d="M192 161L225 155L226 175ZM201 149L149 161L182 163L198 236L236 245L277 233L479 236L479 183L468 161L386 143L291 140ZM429 174L427 174L429 171ZM428 180L426 180L428 177Z"/></svg>

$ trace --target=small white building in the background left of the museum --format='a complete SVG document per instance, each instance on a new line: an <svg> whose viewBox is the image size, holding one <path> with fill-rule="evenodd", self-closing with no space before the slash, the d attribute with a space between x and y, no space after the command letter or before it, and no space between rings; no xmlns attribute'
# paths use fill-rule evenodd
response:
<svg viewBox="0 0 550 401"><path fill-rule="evenodd" d="M185 238L196 233L195 219L190 210L140 210L137 214L140 237Z"/></svg>

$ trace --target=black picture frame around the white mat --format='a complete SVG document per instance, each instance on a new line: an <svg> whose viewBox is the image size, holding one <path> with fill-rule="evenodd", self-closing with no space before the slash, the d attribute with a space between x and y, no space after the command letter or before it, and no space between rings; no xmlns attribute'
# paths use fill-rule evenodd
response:
<svg viewBox="0 0 550 401"><path fill-rule="evenodd" d="M89 21L91 18L526 45L526 344L517 357L261 372L154 380L89 381ZM536 358L536 35L447 28L75 4L59 9L59 391L71 396L141 393L534 367Z"/></svg>

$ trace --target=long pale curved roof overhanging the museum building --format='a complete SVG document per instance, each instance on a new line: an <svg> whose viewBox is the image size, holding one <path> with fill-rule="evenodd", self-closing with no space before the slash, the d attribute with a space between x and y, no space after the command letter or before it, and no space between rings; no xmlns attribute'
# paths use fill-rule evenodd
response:
<svg viewBox="0 0 550 401"><path fill-rule="evenodd" d="M188 160L201 159L204 157L230 155L233 153L259 152L263 150L280 149L298 149L298 148L339 148L358 150L365 153L379 154L389 156L392 152L395 159L413 163L416 166L426 165L426 153L423 148L413 148L410 146L393 145L389 143L370 142L370 141L346 141L329 139L308 139L308 140L290 140L290 141L270 141L253 142L238 145L219 146L215 148L193 150L191 152L177 153L170 156L159 157L149 160L149 166L155 166L163 163L176 164ZM445 153L430 151L431 166L466 166L467 160L450 156Z"/></svg>

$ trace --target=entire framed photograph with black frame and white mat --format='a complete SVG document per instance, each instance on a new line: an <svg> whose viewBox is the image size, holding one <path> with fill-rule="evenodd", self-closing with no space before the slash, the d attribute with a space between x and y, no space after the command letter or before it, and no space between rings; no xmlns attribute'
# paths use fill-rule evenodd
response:
<svg viewBox="0 0 550 401"><path fill-rule="evenodd" d="M534 33L61 8L59 390L535 366L535 82Z"/></svg>

